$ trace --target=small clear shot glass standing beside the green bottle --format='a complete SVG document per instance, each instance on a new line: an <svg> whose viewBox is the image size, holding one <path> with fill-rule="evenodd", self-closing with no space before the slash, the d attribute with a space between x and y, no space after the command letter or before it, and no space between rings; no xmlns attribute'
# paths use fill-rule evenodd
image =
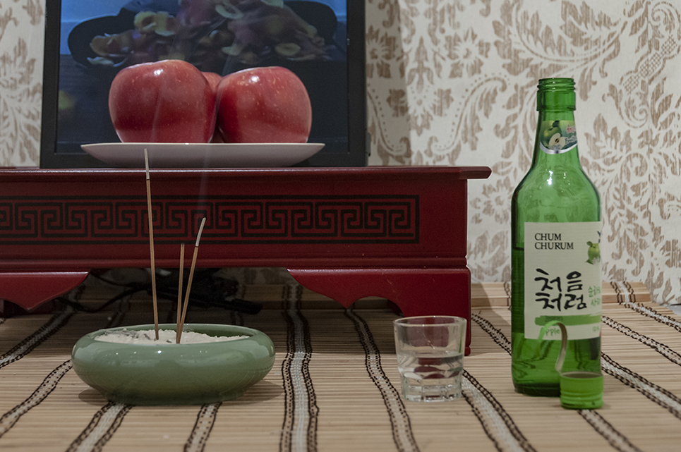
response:
<svg viewBox="0 0 681 452"><path fill-rule="evenodd" d="M461 397L466 319L447 315L393 322L402 396L442 402Z"/></svg>

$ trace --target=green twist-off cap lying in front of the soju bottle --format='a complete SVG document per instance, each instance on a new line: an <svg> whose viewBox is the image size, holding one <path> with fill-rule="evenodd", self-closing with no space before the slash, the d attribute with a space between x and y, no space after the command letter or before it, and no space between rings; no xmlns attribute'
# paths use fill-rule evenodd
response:
<svg viewBox="0 0 681 452"><path fill-rule="evenodd" d="M603 406L603 374L571 371L560 374L560 405L572 410Z"/></svg>

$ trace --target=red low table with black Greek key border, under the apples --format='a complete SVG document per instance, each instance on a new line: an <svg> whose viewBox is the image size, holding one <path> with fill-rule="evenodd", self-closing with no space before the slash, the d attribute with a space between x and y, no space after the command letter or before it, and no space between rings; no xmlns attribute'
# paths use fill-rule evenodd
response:
<svg viewBox="0 0 681 452"><path fill-rule="evenodd" d="M285 267L346 307L373 295L470 320L467 181L490 172L152 170L156 266L178 267L205 217L198 267ZM144 170L0 170L0 298L30 310L90 269L149 267L147 221Z"/></svg>

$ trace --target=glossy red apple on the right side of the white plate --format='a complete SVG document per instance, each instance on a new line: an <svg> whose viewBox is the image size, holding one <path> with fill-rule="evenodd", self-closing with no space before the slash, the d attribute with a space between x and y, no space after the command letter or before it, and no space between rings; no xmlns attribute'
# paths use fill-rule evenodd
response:
<svg viewBox="0 0 681 452"><path fill-rule="evenodd" d="M217 87L217 128L225 142L307 142L312 106L303 82L286 68L250 68Z"/></svg>

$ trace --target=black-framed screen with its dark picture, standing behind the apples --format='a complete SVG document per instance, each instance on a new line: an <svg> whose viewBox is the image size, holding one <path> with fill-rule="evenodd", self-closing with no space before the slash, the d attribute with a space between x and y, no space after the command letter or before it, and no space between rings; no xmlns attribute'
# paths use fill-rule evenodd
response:
<svg viewBox="0 0 681 452"><path fill-rule="evenodd" d="M56 0L46 12L42 168L109 166L81 145L120 141L112 80L173 58L219 75L290 69L311 99L308 142L325 144L296 166L366 165L363 0ZM191 15L193 28L176 32Z"/></svg>

